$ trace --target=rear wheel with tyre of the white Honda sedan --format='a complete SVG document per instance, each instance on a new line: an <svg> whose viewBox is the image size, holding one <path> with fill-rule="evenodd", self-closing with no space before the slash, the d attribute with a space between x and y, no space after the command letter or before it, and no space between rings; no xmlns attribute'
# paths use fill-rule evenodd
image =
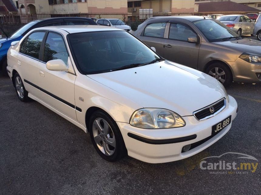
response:
<svg viewBox="0 0 261 195"><path fill-rule="evenodd" d="M24 83L22 82L22 79L18 73L15 73L13 82L18 98L22 102L27 102L29 100L28 92L25 90Z"/></svg>

